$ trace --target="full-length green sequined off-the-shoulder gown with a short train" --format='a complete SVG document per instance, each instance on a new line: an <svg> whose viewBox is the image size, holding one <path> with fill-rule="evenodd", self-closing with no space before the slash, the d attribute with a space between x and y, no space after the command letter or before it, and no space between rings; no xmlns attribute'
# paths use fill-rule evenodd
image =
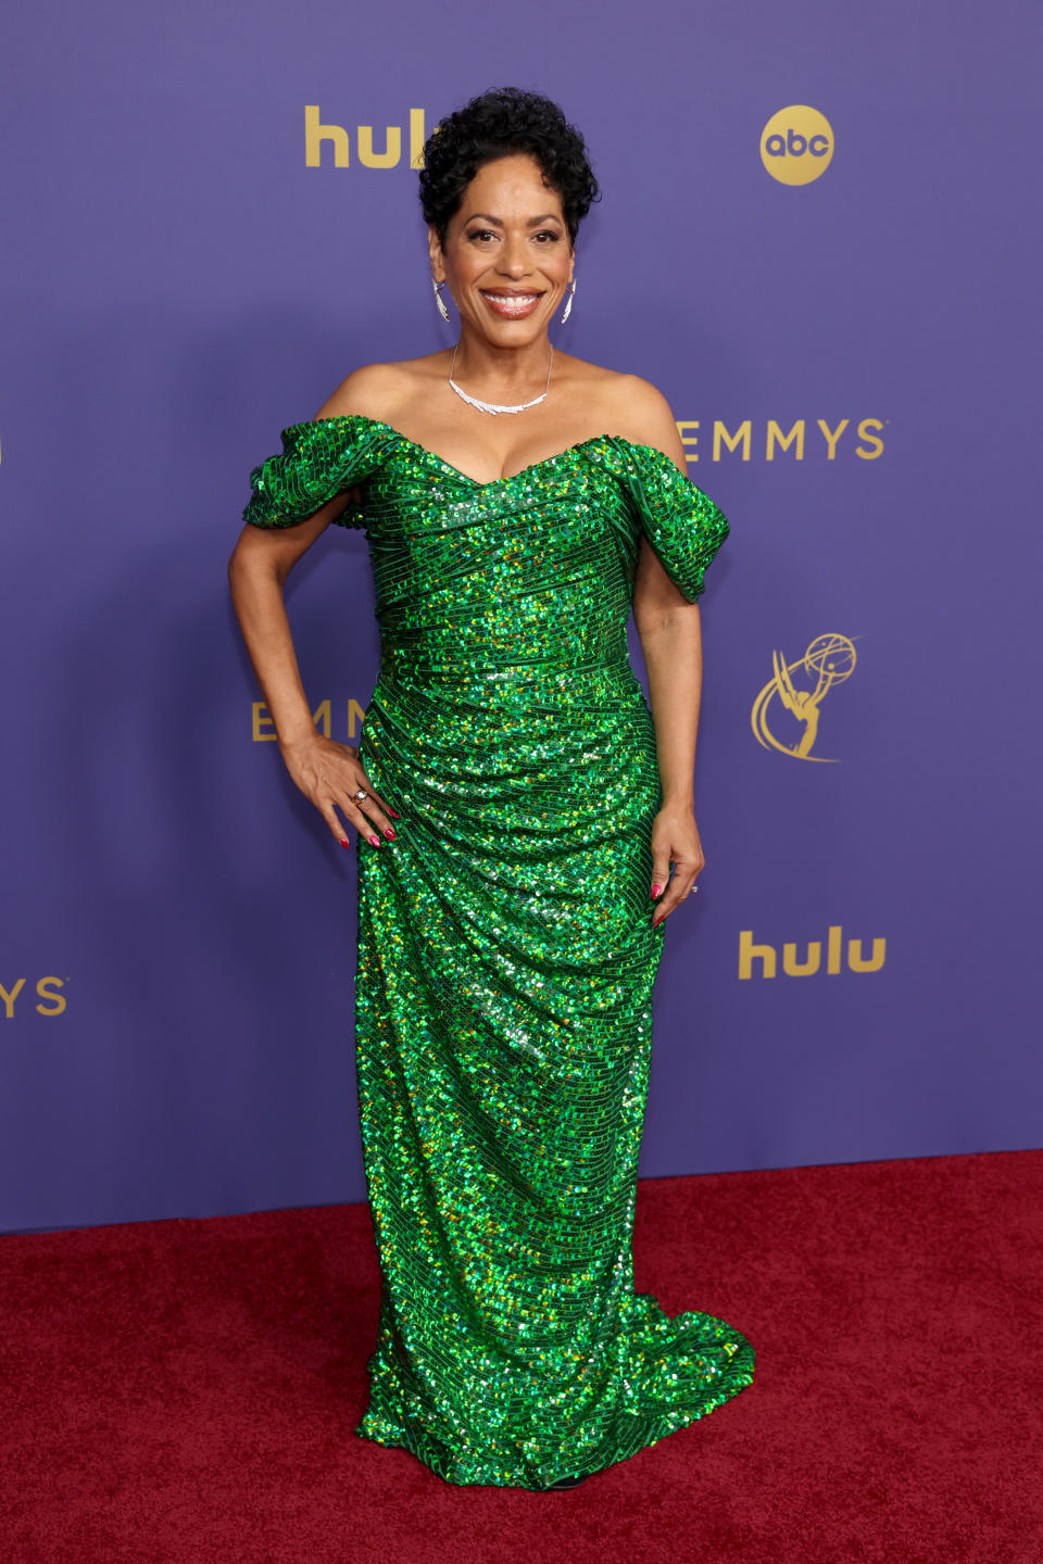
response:
<svg viewBox="0 0 1043 1564"><path fill-rule="evenodd" d="M382 660L360 735L357 1068L383 1293L357 1433L543 1489L751 1384L754 1350L633 1290L652 1042L655 732L627 655L640 538L686 599L729 524L597 436L478 483L363 416L296 424L246 521L346 488Z"/></svg>

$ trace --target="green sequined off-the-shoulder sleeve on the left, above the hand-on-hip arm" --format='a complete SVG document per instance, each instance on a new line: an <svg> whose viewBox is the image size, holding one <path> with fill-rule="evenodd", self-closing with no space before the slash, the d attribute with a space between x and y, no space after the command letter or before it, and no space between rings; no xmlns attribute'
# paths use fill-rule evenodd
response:
<svg viewBox="0 0 1043 1564"><path fill-rule="evenodd" d="M255 527L292 527L313 516L335 494L372 477L392 438L386 424L361 416L291 424L281 433L281 452L250 472L253 493L242 519ZM361 511L349 505L336 521L357 527Z"/></svg>

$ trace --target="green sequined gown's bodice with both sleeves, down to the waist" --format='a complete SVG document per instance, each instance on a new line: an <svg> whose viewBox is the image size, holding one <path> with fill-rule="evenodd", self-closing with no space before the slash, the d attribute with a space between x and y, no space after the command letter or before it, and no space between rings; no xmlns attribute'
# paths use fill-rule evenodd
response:
<svg viewBox="0 0 1043 1564"><path fill-rule="evenodd" d="M694 601L727 536L721 510L651 446L599 435L480 483L389 424L296 424L252 474L246 519L285 527L364 483L386 654L418 669L608 663L625 654L644 532Z"/></svg>

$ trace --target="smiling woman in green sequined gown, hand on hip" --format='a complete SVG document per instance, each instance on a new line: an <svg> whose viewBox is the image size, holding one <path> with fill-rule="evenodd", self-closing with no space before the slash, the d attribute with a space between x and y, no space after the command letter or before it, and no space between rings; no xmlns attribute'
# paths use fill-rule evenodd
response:
<svg viewBox="0 0 1043 1564"><path fill-rule="evenodd" d="M283 432L230 577L289 774L344 846L360 832L383 1297L357 1433L449 1483L568 1487L754 1372L738 1331L669 1320L632 1267L652 984L704 863L696 599L729 527L660 393L549 341L597 194L561 111L488 92L424 160L458 339L357 369ZM316 732L281 597L330 522L364 526L377 590L358 749Z"/></svg>

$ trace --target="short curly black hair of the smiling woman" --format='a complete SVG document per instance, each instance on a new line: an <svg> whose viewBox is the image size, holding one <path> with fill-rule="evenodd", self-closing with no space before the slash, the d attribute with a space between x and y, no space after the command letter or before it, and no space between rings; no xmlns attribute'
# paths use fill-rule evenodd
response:
<svg viewBox="0 0 1043 1564"><path fill-rule="evenodd" d="M496 88L471 99L427 138L419 196L424 221L435 227L441 244L478 169L516 152L535 158L547 185L561 197L565 224L575 244L591 202L600 199L586 145L557 103L521 88Z"/></svg>

